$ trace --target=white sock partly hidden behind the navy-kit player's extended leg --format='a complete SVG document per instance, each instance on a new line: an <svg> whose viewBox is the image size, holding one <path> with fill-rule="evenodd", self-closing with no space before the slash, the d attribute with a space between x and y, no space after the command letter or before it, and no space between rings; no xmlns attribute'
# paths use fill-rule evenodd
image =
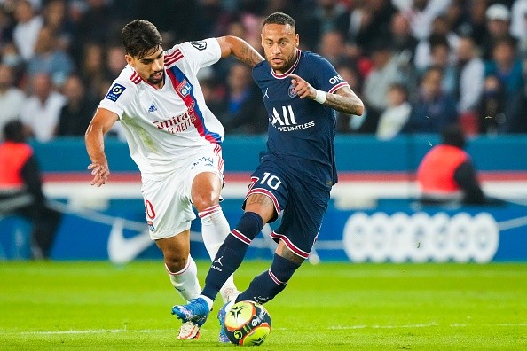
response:
<svg viewBox="0 0 527 351"><path fill-rule="evenodd" d="M216 257L217 250L231 232L231 227L225 218L222 207L219 205L208 207L198 215L201 218L203 244L205 244L210 260L213 261ZM232 292L238 292L238 289L236 289L234 278L231 276L220 290L224 302L227 301Z"/></svg>

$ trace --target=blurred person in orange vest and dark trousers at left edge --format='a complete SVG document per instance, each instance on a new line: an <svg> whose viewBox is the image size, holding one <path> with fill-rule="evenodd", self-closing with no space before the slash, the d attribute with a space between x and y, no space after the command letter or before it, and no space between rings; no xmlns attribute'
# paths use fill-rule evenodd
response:
<svg viewBox="0 0 527 351"><path fill-rule="evenodd" d="M4 126L0 144L0 214L18 214L32 223L32 257L50 257L60 213L46 204L42 177L33 149L26 143L20 121Z"/></svg>

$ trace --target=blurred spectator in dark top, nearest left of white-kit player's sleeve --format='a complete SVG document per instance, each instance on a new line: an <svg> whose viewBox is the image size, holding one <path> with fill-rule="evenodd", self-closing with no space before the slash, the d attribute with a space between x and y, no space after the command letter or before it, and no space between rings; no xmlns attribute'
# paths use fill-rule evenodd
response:
<svg viewBox="0 0 527 351"><path fill-rule="evenodd" d="M66 97L66 105L62 106L59 115L56 136L84 136L91 117L98 106L98 100L86 96L81 77L72 74L67 77L62 93Z"/></svg>

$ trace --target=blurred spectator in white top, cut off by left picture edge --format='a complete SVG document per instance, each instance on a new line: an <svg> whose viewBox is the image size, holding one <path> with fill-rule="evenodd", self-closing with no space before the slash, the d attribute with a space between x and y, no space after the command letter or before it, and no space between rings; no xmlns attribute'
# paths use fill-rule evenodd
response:
<svg viewBox="0 0 527 351"><path fill-rule="evenodd" d="M13 86L12 82L12 67L0 65L0 130L4 129L8 121L20 117L20 109L26 99L26 94Z"/></svg>

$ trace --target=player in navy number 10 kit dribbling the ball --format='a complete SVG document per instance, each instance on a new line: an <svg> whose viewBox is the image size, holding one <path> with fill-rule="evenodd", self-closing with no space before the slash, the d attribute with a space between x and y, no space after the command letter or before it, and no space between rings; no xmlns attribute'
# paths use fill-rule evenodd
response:
<svg viewBox="0 0 527 351"><path fill-rule="evenodd" d="M203 324L225 280L240 267L264 224L281 215L271 233L278 247L270 269L256 276L236 300L218 313L220 341L232 303L265 303L284 290L309 257L337 181L334 163L335 110L360 115L364 105L334 67L318 54L298 49L295 20L272 13L262 27L266 60L253 68L269 115L267 151L251 176L245 213L219 248L200 297L172 308L183 322Z"/></svg>

